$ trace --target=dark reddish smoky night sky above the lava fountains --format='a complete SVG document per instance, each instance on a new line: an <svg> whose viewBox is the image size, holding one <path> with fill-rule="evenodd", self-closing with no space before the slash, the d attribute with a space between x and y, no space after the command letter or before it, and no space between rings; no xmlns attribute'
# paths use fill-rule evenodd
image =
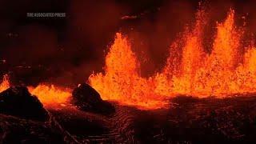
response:
<svg viewBox="0 0 256 144"><path fill-rule="evenodd" d="M12 71L22 81L77 83L102 70L104 50L114 33L132 37L136 52L151 60L148 74L161 68L170 42L194 20L198 0L1 0L1 74ZM222 21L230 7L238 16L250 13L249 27L256 32L256 1L207 1L214 22ZM66 18L27 18L28 12L64 12ZM142 16L142 14L144 14ZM121 20L137 15L134 20ZM133 30L130 30L133 28ZM144 42L144 46L137 43ZM18 66L32 66L30 69ZM24 70L23 70L24 69ZM36 80L35 80L36 79Z"/></svg>

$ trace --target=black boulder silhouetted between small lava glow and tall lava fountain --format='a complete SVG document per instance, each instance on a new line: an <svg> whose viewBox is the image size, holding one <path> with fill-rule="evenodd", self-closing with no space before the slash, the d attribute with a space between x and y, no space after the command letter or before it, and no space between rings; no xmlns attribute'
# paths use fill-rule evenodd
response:
<svg viewBox="0 0 256 144"><path fill-rule="evenodd" d="M103 101L94 88L83 83L73 90L72 102L78 109L101 114L111 114L114 106L110 102Z"/></svg>

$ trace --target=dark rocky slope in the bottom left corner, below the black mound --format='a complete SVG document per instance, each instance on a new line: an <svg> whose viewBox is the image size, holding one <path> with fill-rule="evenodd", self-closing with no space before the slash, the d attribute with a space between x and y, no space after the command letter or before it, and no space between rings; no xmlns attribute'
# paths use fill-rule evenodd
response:
<svg viewBox="0 0 256 144"><path fill-rule="evenodd" d="M68 143L65 135L46 122L28 121L26 119L0 114L0 143Z"/></svg>

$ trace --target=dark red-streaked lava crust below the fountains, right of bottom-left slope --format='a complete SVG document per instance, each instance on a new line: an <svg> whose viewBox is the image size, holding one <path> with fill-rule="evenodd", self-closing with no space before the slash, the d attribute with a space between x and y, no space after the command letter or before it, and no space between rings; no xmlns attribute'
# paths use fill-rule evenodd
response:
<svg viewBox="0 0 256 144"><path fill-rule="evenodd" d="M65 108L50 110L78 142L254 142L256 97L171 99L169 110L115 104L110 116Z"/></svg>

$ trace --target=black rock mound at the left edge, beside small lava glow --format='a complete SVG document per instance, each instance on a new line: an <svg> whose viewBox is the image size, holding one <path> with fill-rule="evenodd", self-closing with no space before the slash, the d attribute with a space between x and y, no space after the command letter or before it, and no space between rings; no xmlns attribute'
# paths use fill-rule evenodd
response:
<svg viewBox="0 0 256 144"><path fill-rule="evenodd" d="M10 87L0 93L0 113L37 121L46 121L49 118L38 98L23 86Z"/></svg>

